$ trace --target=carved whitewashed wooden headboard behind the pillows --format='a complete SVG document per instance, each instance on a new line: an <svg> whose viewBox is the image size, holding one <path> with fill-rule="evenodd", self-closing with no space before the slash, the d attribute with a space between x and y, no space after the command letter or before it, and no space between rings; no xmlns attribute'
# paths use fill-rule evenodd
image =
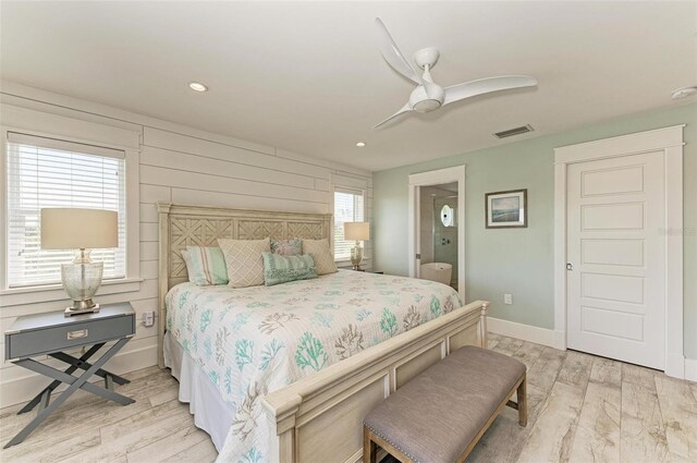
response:
<svg viewBox="0 0 697 463"><path fill-rule="evenodd" d="M175 284L188 281L182 249L186 246L218 246L219 237L234 240L328 239L331 214L280 212L272 210L229 209L158 203L159 248L159 334L158 363L164 367L164 296Z"/></svg>

